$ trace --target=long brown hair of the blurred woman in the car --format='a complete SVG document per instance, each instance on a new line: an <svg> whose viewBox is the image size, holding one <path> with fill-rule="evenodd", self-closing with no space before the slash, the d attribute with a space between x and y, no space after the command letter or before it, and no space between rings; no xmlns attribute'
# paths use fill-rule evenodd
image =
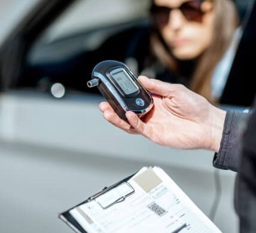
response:
<svg viewBox="0 0 256 233"><path fill-rule="evenodd" d="M230 45L238 23L238 13L232 0L214 0L214 32L218 33L213 34L211 44L197 59L188 86L210 102L217 102L211 91L212 74ZM177 75L182 73L181 61L170 53L159 30L153 30L150 41L155 56Z"/></svg>

